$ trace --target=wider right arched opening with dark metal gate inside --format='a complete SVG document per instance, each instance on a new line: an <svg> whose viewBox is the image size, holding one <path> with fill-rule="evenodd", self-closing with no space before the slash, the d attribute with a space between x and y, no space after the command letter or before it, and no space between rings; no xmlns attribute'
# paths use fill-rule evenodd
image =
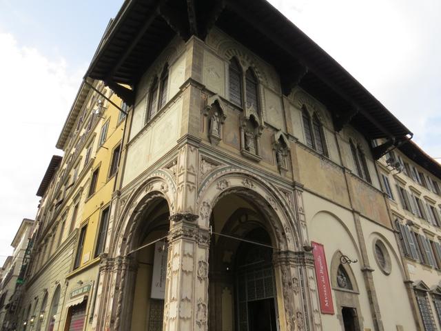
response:
<svg viewBox="0 0 441 331"><path fill-rule="evenodd" d="M232 193L214 205L210 223L209 330L278 330L270 220Z"/></svg>

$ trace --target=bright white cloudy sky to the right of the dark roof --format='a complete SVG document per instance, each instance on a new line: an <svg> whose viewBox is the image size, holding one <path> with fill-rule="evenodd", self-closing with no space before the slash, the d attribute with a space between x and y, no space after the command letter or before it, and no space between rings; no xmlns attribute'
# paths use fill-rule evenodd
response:
<svg viewBox="0 0 441 331"><path fill-rule="evenodd" d="M441 157L440 1L269 2Z"/></svg>

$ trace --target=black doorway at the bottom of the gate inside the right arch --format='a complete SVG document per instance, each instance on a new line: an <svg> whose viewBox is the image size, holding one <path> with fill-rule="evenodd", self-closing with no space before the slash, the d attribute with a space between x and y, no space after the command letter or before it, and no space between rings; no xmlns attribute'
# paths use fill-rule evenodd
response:
<svg viewBox="0 0 441 331"><path fill-rule="evenodd" d="M248 330L277 330L274 299L271 298L248 302Z"/></svg>

